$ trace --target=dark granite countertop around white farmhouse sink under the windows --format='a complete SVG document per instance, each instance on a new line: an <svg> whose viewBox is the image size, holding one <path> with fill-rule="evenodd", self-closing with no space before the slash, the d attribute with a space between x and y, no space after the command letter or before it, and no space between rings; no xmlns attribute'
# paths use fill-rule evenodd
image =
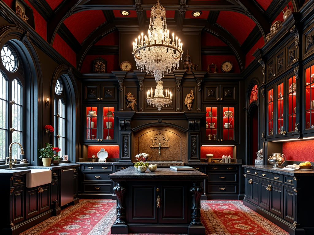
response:
<svg viewBox="0 0 314 235"><path fill-rule="evenodd" d="M60 163L59 165L51 165L51 166L23 166L23 167L15 167L12 169L1 169L0 175L23 175L30 172L31 169L49 169L49 170L59 170L69 167L78 167L79 164L73 163Z"/></svg>

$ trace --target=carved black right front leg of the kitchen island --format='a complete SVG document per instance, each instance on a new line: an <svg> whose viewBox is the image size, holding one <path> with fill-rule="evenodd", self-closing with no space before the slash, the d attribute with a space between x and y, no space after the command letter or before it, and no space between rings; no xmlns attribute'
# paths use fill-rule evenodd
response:
<svg viewBox="0 0 314 235"><path fill-rule="evenodd" d="M200 186L200 182L192 182L190 188L192 193L192 221L189 225L188 234L205 234L205 227L201 222L201 196L204 189Z"/></svg>

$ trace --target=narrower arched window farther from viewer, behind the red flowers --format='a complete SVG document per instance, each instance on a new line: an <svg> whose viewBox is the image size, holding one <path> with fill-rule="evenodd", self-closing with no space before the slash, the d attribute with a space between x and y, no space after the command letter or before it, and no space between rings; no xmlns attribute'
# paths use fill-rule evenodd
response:
<svg viewBox="0 0 314 235"><path fill-rule="evenodd" d="M56 82L54 91L54 145L61 149L59 157L63 158L66 153L66 96L60 78Z"/></svg>

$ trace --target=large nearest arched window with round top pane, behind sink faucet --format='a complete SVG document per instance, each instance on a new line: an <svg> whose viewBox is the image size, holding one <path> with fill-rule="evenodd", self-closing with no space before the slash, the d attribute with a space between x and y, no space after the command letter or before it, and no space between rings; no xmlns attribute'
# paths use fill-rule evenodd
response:
<svg viewBox="0 0 314 235"><path fill-rule="evenodd" d="M9 156L9 145L23 145L24 77L16 51L5 44L0 64L0 160ZM21 159L19 145L12 145L12 159Z"/></svg>

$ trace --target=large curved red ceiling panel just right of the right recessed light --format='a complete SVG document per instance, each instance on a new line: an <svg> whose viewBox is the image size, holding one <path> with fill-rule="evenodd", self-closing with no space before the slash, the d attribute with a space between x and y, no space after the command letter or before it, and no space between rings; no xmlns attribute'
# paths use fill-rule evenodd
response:
<svg viewBox="0 0 314 235"><path fill-rule="evenodd" d="M256 25L246 15L232 11L221 11L216 23L229 31L240 44L245 41Z"/></svg>

